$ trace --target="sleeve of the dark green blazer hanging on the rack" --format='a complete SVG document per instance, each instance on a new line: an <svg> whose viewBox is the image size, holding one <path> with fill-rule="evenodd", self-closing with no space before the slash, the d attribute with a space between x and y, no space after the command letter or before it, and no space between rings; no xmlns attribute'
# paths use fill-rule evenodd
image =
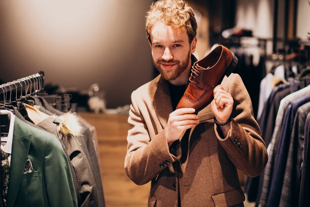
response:
<svg viewBox="0 0 310 207"><path fill-rule="evenodd" d="M57 138L47 138L44 179L50 207L77 207L74 183L66 155Z"/></svg>

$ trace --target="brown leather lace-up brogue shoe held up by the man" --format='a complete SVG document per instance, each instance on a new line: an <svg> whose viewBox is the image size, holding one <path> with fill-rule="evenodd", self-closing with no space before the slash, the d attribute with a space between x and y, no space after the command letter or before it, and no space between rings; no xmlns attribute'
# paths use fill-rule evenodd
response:
<svg viewBox="0 0 310 207"><path fill-rule="evenodd" d="M176 109L194 108L198 113L205 108L213 100L213 89L237 64L237 57L226 47L214 48L204 59L194 63L190 82Z"/></svg>

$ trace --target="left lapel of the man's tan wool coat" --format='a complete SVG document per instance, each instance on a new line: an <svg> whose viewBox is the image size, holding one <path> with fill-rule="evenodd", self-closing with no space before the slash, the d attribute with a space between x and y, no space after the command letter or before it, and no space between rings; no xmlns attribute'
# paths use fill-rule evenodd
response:
<svg viewBox="0 0 310 207"><path fill-rule="evenodd" d="M154 94L154 109L161 126L165 128L168 123L169 114L173 111L169 86L161 75L156 77L155 84L157 84L157 87L154 87L154 91L152 91Z"/></svg>

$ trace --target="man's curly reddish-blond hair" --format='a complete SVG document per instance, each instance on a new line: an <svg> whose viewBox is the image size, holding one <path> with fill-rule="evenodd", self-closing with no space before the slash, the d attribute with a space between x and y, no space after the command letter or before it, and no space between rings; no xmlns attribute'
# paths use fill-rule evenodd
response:
<svg viewBox="0 0 310 207"><path fill-rule="evenodd" d="M194 10L184 0L158 0L152 3L146 15L147 37L151 41L151 30L157 21L186 31L190 43L197 34Z"/></svg>

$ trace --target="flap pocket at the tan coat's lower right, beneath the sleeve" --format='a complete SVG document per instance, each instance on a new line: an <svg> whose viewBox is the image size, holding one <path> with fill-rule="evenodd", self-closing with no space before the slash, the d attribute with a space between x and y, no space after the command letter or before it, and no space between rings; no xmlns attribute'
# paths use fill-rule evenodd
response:
<svg viewBox="0 0 310 207"><path fill-rule="evenodd" d="M232 207L240 204L243 206L243 202L246 200L241 187L232 191L227 191L221 194L212 196L215 207Z"/></svg>

